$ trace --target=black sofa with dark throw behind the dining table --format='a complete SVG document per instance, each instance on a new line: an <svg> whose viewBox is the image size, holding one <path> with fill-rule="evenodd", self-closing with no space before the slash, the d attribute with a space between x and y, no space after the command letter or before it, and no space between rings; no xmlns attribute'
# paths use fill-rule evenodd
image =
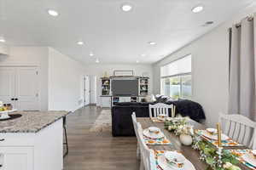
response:
<svg viewBox="0 0 256 170"><path fill-rule="evenodd" d="M123 102L113 105L111 108L112 135L114 137L134 136L135 132L131 120L132 112L135 112L137 117L149 117L148 105L154 105L156 103L176 105L176 113L181 116L189 116L196 122L204 122L206 119L201 105L188 99L173 100L166 96L160 96L154 102Z"/></svg>

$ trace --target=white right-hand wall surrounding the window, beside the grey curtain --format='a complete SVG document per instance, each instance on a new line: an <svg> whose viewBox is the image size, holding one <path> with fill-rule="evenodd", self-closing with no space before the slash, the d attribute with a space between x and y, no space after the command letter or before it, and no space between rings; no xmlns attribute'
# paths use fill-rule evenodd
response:
<svg viewBox="0 0 256 170"><path fill-rule="evenodd" d="M218 112L228 111L228 28L247 14L254 12L256 12L255 6L247 8L207 35L154 64L154 94L160 94L160 66L184 55L192 54L192 99L203 106L207 116L207 125L215 126L215 122L218 122Z"/></svg>

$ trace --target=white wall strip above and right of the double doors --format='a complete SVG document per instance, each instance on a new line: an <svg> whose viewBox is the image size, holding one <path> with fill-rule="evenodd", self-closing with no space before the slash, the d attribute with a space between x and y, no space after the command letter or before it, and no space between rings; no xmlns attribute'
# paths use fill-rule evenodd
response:
<svg viewBox="0 0 256 170"><path fill-rule="evenodd" d="M39 68L40 109L48 109L48 48L9 47L9 55L0 56L0 66L37 66Z"/></svg>

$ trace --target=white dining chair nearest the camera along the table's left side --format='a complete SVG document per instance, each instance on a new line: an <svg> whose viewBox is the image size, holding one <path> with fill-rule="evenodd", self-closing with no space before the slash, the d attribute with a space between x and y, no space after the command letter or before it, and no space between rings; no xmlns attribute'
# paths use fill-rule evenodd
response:
<svg viewBox="0 0 256 170"><path fill-rule="evenodd" d="M138 143L141 150L141 165L140 170L156 170L156 162L154 158L154 151L149 150L147 144L143 139L143 127L141 123L137 122Z"/></svg>

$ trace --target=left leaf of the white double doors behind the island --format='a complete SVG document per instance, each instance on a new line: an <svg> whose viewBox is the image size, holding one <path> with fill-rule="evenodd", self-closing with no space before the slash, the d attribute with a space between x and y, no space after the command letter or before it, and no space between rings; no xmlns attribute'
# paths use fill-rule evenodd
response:
<svg viewBox="0 0 256 170"><path fill-rule="evenodd" d="M0 101L15 106L15 69L0 67Z"/></svg>

